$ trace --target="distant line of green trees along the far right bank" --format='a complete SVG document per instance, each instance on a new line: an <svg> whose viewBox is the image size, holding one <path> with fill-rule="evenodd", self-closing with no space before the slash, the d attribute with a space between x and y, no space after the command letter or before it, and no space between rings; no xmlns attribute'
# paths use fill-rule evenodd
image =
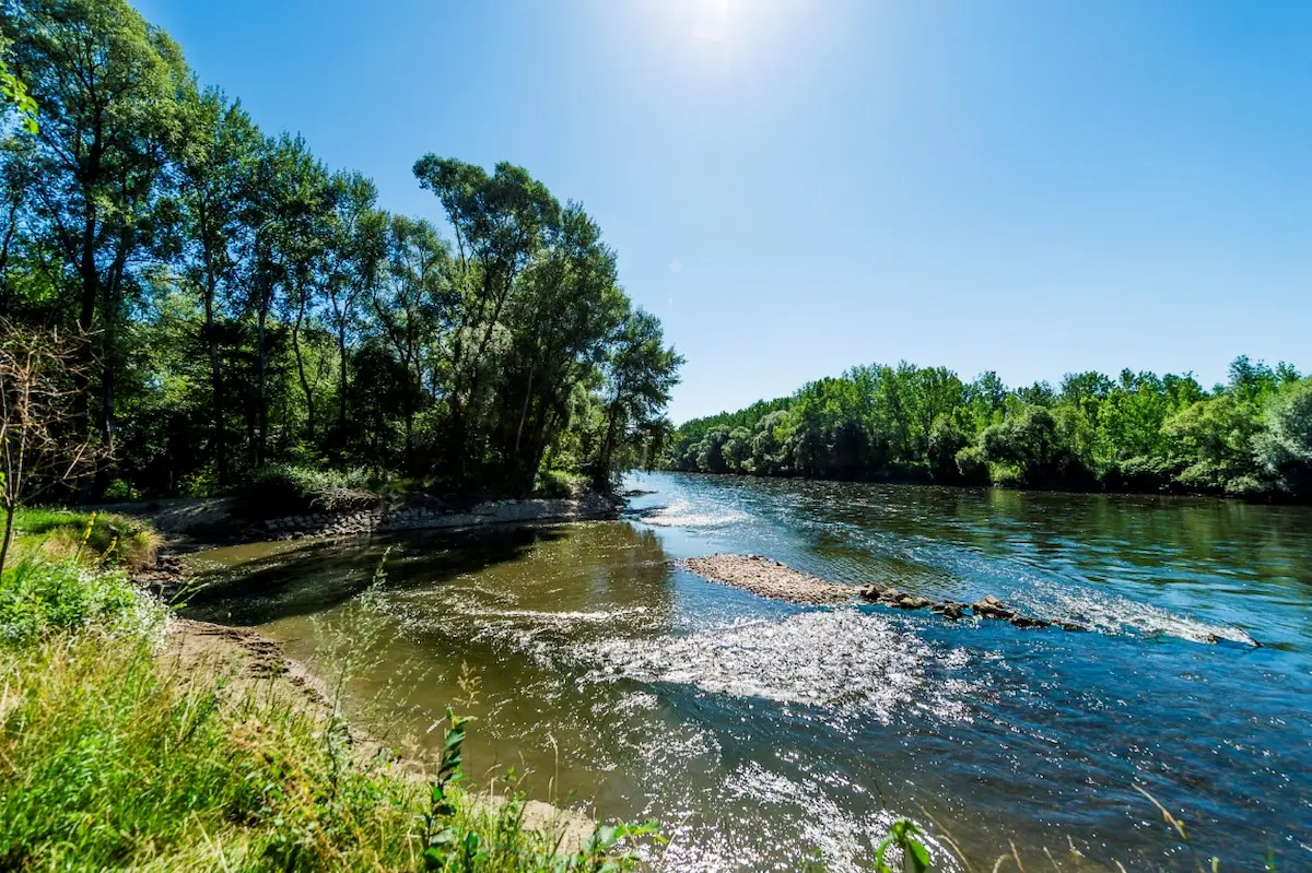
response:
<svg viewBox="0 0 1312 873"><path fill-rule="evenodd" d="M1124 370L1008 388L854 367L682 425L670 469L857 481L1312 499L1312 378L1237 358L1225 384Z"/></svg>

